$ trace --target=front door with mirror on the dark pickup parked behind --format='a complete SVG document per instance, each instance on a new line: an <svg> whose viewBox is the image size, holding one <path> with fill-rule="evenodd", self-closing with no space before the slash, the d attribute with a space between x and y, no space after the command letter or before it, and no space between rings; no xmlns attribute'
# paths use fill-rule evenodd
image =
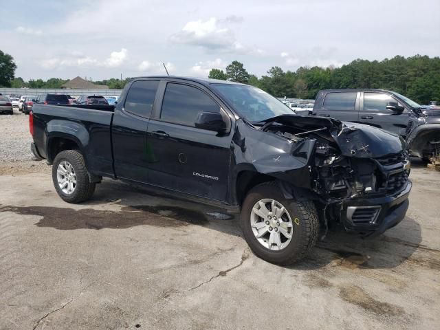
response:
<svg viewBox="0 0 440 330"><path fill-rule="evenodd" d="M386 109L388 102L404 105L386 93L365 91L362 98L363 106L361 106L359 113L360 122L379 127L380 129L392 133L404 135L409 120L408 110L405 109L402 113L388 110Z"/></svg>

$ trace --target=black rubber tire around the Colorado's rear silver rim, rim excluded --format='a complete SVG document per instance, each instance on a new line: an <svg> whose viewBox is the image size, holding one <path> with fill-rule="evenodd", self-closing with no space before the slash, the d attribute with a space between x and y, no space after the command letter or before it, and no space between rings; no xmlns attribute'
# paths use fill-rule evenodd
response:
<svg viewBox="0 0 440 330"><path fill-rule="evenodd" d="M63 191L60 183L58 183L58 169L61 163L70 164L73 168L76 182L75 184L72 184L72 187L74 187L72 192ZM61 165L62 167L63 164ZM60 175L63 177L61 173ZM56 192L58 192L61 199L67 201L67 203L80 203L82 201L87 201L95 192L96 184L91 183L89 180L84 157L76 150L61 151L61 153L56 155L52 166L52 180L54 181Z"/></svg>

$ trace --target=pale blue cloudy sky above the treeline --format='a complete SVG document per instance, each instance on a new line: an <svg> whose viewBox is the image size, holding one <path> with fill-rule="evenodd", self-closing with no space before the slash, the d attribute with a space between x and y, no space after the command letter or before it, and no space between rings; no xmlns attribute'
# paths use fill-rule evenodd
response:
<svg viewBox="0 0 440 330"><path fill-rule="evenodd" d="M0 1L0 50L16 76L93 80L207 76L231 61L340 66L355 58L440 56L439 0Z"/></svg>

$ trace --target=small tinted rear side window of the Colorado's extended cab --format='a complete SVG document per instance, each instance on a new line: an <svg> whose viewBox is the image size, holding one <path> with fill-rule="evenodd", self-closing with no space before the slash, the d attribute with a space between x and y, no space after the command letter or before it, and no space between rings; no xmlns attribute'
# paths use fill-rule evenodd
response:
<svg viewBox="0 0 440 330"><path fill-rule="evenodd" d="M131 84L125 98L125 111L150 118L158 85L157 80L137 80Z"/></svg>

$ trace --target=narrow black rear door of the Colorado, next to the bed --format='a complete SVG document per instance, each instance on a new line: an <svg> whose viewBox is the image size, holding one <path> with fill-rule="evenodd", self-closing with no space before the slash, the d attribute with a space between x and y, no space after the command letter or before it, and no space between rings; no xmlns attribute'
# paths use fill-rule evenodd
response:
<svg viewBox="0 0 440 330"><path fill-rule="evenodd" d="M111 129L115 175L138 182L148 181L151 152L146 141L148 120L159 80L135 80L124 104L118 104Z"/></svg>

